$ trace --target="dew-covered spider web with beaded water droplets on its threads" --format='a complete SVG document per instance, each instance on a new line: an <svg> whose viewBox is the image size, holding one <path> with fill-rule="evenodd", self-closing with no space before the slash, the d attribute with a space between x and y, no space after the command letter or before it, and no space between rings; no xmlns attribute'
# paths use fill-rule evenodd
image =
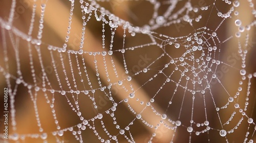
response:
<svg viewBox="0 0 256 143"><path fill-rule="evenodd" d="M130 1L129 1L130 2ZM12 1L10 8L10 14L8 19L0 17L1 24L1 38L2 38L2 51L4 57L2 60L2 65L0 65L0 72L3 74L3 77L6 81L7 87L9 89L9 99L10 99L10 121L9 128L11 134L9 139L6 140L1 134L1 138L5 141L16 141L23 142L28 138L36 138L41 140L41 142L49 142L48 138L53 136L56 142L61 141L61 136L71 133L73 138L77 142L87 142L87 134L84 133L87 130L92 130L98 142L119 142L119 140L125 140L126 142L136 142L136 137L132 132L131 128L136 128L134 125L135 122L142 123L140 126L145 126L145 128L151 128L149 132L151 135L145 139L145 142L154 142L154 138L158 136L158 130L160 126L163 126L166 130L170 130L170 139L168 142L179 142L176 134L179 134L179 130L184 130L187 132L184 134L187 136L187 142L191 142L194 136L202 136L206 134L206 141L211 142L211 134L217 133L217 138L220 138L223 142L229 142L232 140L232 134L236 132L238 128L246 127L242 136L244 136L244 142L253 142L255 138L255 123L253 120L253 109L251 112L247 111L247 108L255 106L254 98L250 94L250 90L255 85L252 84L252 80L256 77L256 72L250 72L246 69L246 58L247 54L250 52L250 32L254 30L256 20L252 20L246 25L238 18L239 17L239 1L219 1L221 5L225 5L229 10L227 12L219 10L218 6L215 4L216 1L210 1L204 7L194 7L191 5L190 1L182 3L182 7L178 11L175 11L177 5L180 1L145 1L143 3L148 3L153 5L153 16L151 20L144 26L135 26L129 21L120 19L119 17L112 14L110 11L105 10L101 7L97 1L70 1L70 15L67 16L69 19L69 24L67 28L67 36L65 37L65 43L62 47L57 47L55 45L47 44L42 41L42 33L44 31L44 16L45 9L48 4L46 2L40 2L40 7L38 5L33 5L30 26L29 30L26 32L20 31L18 28L13 26L13 20L16 1ZM36 2L34 2L36 3ZM38 2L37 2L38 3ZM105 3L111 3L106 1ZM131 1L133 3L133 1ZM256 11L253 7L251 1L245 2L245 4L250 8L252 17L256 16ZM69 49L69 34L72 31L72 17L74 6L79 5L82 12L82 28L81 28L81 39L80 46L76 49ZM161 5L167 6L167 10L159 15L158 11ZM38 28L35 28L35 15L36 9L40 9L41 13L38 18L39 25ZM202 22L202 15L198 14L198 11L203 11L209 13L206 23L202 27L196 27L195 23ZM189 13L195 12L196 16L190 17ZM211 19L212 16L218 16L222 20L218 22L216 28L212 29L208 27L208 23L213 22L214 19ZM83 46L84 41L86 41L86 33L88 23L91 19L96 19L97 22L102 23L102 39L101 49L99 51L90 51L88 48ZM222 32L218 31L219 28L227 21L232 21L233 26L237 26L236 33L233 35L227 35L220 38ZM190 34L172 37L172 35L164 35L156 32L161 27L175 26L175 24L180 23L181 21L187 22L189 27L193 27L194 31L191 31ZM216 22L216 21L215 21ZM121 48L115 48L115 39L117 30L123 30L123 42ZM32 36L32 33L37 30L36 37ZM110 45L105 43L105 31L111 31L111 41ZM245 35L243 37L243 34ZM126 35L131 35L132 37L136 36L146 36L150 39L150 42L143 43L141 45L135 45L132 47L125 46L126 44ZM238 52L240 58L242 59L239 67L235 67L228 63L225 63L221 60L221 54L223 51L222 44L229 41L230 39L238 39L237 47L233 48L233 51ZM7 41L10 41L9 43ZM240 41L245 41L241 43ZM19 43L26 42L25 47L20 47ZM108 41L109 42L109 41ZM129 67L129 61L127 61L126 53L136 52L138 49L147 50L148 47L154 47L161 49L162 53L155 58L154 60L147 63L147 65L139 70L138 72L131 73L127 67ZM172 53L168 51L171 48L172 52L176 50L182 50L180 56L173 56ZM13 53L10 53L10 49ZM29 61L29 67L31 72L31 81L24 79L24 74L22 72L22 64L20 64L24 59L20 58L22 50L26 50L27 58ZM34 52L33 52L34 51ZM48 60L46 60L44 53L48 53ZM36 54L34 56L33 54ZM122 70L125 71L125 76L122 76L122 71L119 71L116 68L116 59L114 56L121 55ZM35 57L37 59L35 59ZM87 61L86 59L92 59ZM156 66L161 59L167 58L168 62L162 63L163 66ZM10 60L15 61L16 73L13 72L13 69L10 68ZM47 62L48 63L47 63ZM59 63L57 63L58 61ZM37 63L36 63L37 62ZM102 63L100 63L102 62ZM55 79L50 79L45 69L45 64L52 63ZM91 63L91 64L88 64ZM38 64L39 68L35 68L35 64ZM94 65L90 67L88 65ZM234 69L237 73L237 78L239 78L238 89L231 91L224 83L222 83L221 77L217 74L219 67L221 65L226 65L231 69ZM89 73L87 69L93 69L94 73ZM103 69L103 71L101 71ZM42 82L37 83L36 74L41 72L41 75L38 75ZM148 76L147 73L153 73ZM111 76L114 75L114 76ZM77 76L78 75L78 76ZM91 80L90 78L95 77L96 80ZM139 88L134 89L132 84L133 80L137 76L146 76L147 80L140 84ZM160 87L155 87L157 90L155 93L150 93L149 100L141 99L141 96L138 94L142 88L146 87L147 84L152 84L156 78L163 78L164 80L160 83ZM103 79L102 79L103 77ZM121 77L121 78L120 78ZM54 81L53 81L54 80ZM221 89L225 91L223 95L216 95L211 87L211 82L216 80ZM15 83L13 83L15 81ZM97 85L96 85L96 84ZM125 84L126 83L126 84ZM53 85L56 84L56 85ZM15 100L18 92L18 87L22 85L27 89L26 96L29 96L34 109L34 115L37 122L37 132L35 133L19 133L17 124L18 120L16 115L15 103L19 102ZM127 86L128 85L128 86ZM125 98L120 100L116 99L113 93L112 87L119 87L119 90L124 91ZM161 93L162 89L168 88L168 86L173 86L174 91L163 95ZM67 88L68 87L68 88ZM199 88L197 88L199 87ZM243 88L242 88L243 87ZM50 107L52 116L49 118L54 119L56 125L55 130L48 131L44 129L41 124L41 115L38 111L40 108L37 103L37 98L40 95L44 95L47 105ZM113 105L110 108L105 110L98 110L98 101L97 96L102 95L108 97L109 102ZM86 98L80 98L84 96ZM157 110L155 108L155 100L159 96L167 96L168 101L164 101L165 106L164 110ZM176 97L181 97L181 102L176 101ZM221 97L218 97L221 96ZM196 100L201 98L203 103L201 103L202 112L196 112L195 107ZM61 102L66 102L70 106L76 116L80 119L78 124L75 124L70 127L62 127L59 124L59 118L65 118L58 116L58 113L55 112L56 102L59 102L57 99L64 98L66 101L61 100ZM221 98L221 103L219 99ZM189 99L190 104L186 105L186 99ZM90 110L97 110L98 113L92 117L87 118L80 111L80 105L86 103L84 100L87 100L93 104L93 108ZM210 108L207 106L206 100L210 100L212 108L211 112L207 110ZM249 102L250 101L250 102ZM83 103L84 102L84 103ZM130 102L135 102L138 106L141 106L141 110L135 110ZM172 104L178 102L178 113L177 116L173 116L168 113L172 111ZM122 115L116 114L116 110L122 105L129 108L129 110L122 111L122 113L132 113L134 118L131 119L126 125L119 125L119 120L122 119ZM26 105L25 105L26 106ZM182 112L184 108L188 108L190 115L187 116L189 120L183 120ZM49 108L48 108L49 109ZM147 119L144 119L144 111L149 110L154 114L153 120L154 123L147 122ZM221 111L232 110L228 112L226 116L223 117ZM195 113L194 113L195 112ZM194 120L195 116L201 114L204 117L203 121ZM196 115L195 115L196 114ZM209 121L209 115L214 114L218 118L215 122L218 122L218 126L214 126L211 121ZM159 118L157 118L159 117ZM104 123L105 118L110 118L113 123L111 131L110 127ZM109 120L110 120L109 119ZM235 120L236 119L236 120ZM238 119L238 120L237 120ZM232 126L228 126L233 122ZM98 124L99 126L96 126ZM216 123L215 123L216 124ZM241 125L242 124L242 125ZM28 125L29 126L29 125ZM228 126L228 127L227 127ZM47 130L47 131L45 131ZM114 131L113 131L114 130ZM131 130L131 131L130 131ZM121 139L119 139L121 138Z"/></svg>

